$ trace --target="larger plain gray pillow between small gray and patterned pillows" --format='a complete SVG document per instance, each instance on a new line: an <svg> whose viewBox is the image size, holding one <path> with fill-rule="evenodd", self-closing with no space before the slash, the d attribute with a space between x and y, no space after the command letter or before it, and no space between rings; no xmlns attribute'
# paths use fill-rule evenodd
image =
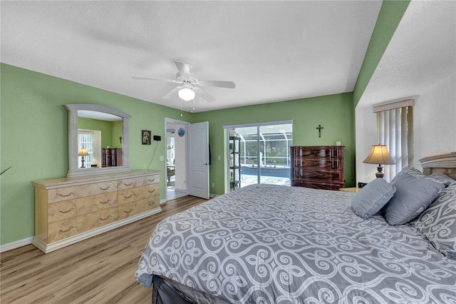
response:
<svg viewBox="0 0 456 304"><path fill-rule="evenodd" d="M383 215L390 225L402 225L419 216L445 188L436 181L407 173L396 176L392 185L396 193L383 207Z"/></svg>

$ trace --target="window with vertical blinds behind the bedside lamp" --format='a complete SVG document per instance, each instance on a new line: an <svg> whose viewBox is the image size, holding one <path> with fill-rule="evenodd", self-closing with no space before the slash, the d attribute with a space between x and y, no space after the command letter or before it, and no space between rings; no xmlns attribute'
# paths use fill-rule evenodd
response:
<svg viewBox="0 0 456 304"><path fill-rule="evenodd" d="M395 165L384 168L390 181L406 166L413 166L413 99L373 106L377 113L378 143L386 145Z"/></svg>

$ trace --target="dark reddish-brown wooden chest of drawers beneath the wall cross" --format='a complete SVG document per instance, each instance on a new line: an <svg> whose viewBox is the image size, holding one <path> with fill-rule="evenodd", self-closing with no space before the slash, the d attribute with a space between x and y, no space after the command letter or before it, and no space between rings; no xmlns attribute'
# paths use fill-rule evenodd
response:
<svg viewBox="0 0 456 304"><path fill-rule="evenodd" d="M343 188L344 146L292 146L291 186Z"/></svg>

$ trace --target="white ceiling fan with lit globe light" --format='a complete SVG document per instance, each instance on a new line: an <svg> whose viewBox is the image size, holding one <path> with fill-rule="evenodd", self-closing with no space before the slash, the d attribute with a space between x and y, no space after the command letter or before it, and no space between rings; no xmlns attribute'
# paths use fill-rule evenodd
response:
<svg viewBox="0 0 456 304"><path fill-rule="evenodd" d="M185 63L184 61L174 61L177 67L176 79L162 79L162 78L150 78L150 77L137 77L133 76L134 79L140 80L152 80L152 81L165 81L167 83L175 83L177 86L170 92L165 94L162 98L168 99L172 96L177 95L184 101L191 101L195 98L196 94L205 100L212 102L215 100L214 96L204 91L202 87L212 86L218 88L235 88L236 84L233 81L218 81L218 80L198 80L195 74L192 74L192 66Z"/></svg>

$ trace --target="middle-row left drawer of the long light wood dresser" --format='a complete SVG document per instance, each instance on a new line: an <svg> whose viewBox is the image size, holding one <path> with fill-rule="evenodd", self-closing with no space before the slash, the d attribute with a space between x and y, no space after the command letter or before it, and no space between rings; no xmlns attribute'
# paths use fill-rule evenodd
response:
<svg viewBox="0 0 456 304"><path fill-rule="evenodd" d="M62 221L86 213L117 206L117 192L48 204L48 223Z"/></svg>

